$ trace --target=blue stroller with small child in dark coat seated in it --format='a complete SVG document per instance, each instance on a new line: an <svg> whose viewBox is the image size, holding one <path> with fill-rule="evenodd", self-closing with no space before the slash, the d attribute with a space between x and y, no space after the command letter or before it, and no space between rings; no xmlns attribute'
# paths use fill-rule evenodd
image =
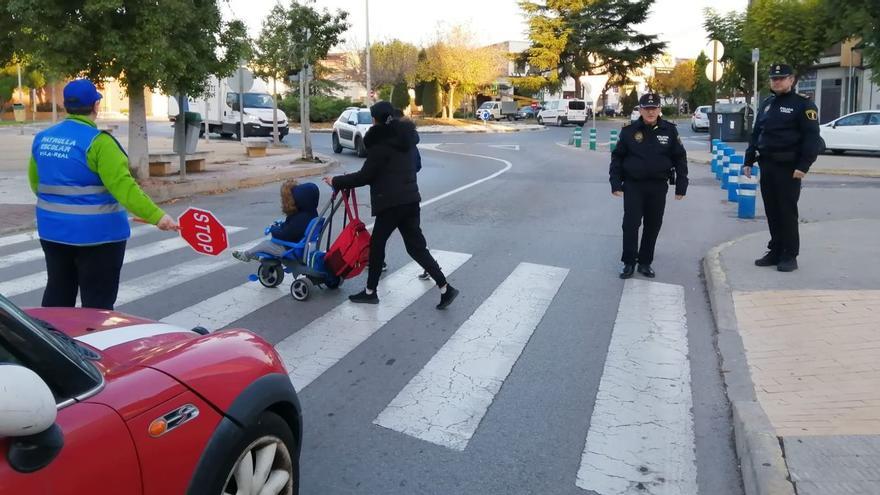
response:
<svg viewBox="0 0 880 495"><path fill-rule="evenodd" d="M339 287L341 280L325 270L325 253L317 249L325 230L325 219L318 214L319 198L320 191L315 184L299 184L293 179L284 181L281 185L284 221L276 221L266 228L269 239L247 251L232 252L240 261L260 262L251 280L259 280L265 287L277 287L284 280L285 272L292 273L295 279L290 293L298 301L308 299L315 285Z"/></svg>

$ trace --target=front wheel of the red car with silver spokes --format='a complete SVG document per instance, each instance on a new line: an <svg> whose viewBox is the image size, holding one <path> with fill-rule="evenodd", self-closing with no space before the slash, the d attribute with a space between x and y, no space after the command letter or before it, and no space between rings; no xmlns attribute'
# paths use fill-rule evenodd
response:
<svg viewBox="0 0 880 495"><path fill-rule="evenodd" d="M232 451L234 457L228 461L231 468L225 471L221 493L297 493L299 466L292 456L295 449L290 426L275 413L262 413L255 423L245 427L242 440Z"/></svg>

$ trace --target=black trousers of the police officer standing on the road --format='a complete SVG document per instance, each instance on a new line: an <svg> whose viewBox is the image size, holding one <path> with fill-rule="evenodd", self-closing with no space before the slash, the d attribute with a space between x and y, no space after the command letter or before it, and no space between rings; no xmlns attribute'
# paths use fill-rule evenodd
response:
<svg viewBox="0 0 880 495"><path fill-rule="evenodd" d="M623 255L626 264L654 262L654 245L663 224L666 209L666 181L625 181L623 184ZM644 219L642 242L639 244L639 226Z"/></svg>

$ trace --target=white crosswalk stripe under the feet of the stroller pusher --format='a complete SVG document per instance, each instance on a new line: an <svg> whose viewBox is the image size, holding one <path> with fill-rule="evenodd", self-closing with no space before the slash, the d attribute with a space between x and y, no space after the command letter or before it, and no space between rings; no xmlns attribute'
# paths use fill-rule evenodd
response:
<svg viewBox="0 0 880 495"><path fill-rule="evenodd" d="M471 257L448 251L432 250L431 254L447 276ZM279 342L275 349L290 372L293 386L297 390L308 386L407 306L433 291L434 284L419 280L420 273L419 265L409 263L379 282L379 304L345 301ZM440 293L434 292L439 299Z"/></svg>

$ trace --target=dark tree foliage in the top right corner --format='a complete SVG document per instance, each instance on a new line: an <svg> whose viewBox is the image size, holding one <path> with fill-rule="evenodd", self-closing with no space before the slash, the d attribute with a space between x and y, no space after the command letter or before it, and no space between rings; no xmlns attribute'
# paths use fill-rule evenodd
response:
<svg viewBox="0 0 880 495"><path fill-rule="evenodd" d="M865 67L872 69L872 79L880 84L880 2L876 0L822 0L823 17L828 20L831 42L861 39ZM846 15L840 15L845 12Z"/></svg>

